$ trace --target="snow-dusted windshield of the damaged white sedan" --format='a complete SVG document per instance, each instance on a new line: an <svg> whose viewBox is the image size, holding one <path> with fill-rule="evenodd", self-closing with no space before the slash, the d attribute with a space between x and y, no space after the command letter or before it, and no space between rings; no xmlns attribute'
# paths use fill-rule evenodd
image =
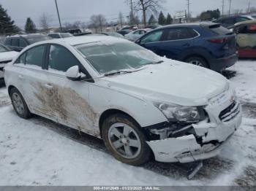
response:
<svg viewBox="0 0 256 191"><path fill-rule="evenodd" d="M80 44L77 49L99 74L135 70L160 62L158 55L132 42Z"/></svg>

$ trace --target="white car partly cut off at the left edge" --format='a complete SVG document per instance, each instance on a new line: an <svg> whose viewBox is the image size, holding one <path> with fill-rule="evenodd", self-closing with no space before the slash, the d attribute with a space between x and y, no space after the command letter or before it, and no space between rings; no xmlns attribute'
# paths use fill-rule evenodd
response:
<svg viewBox="0 0 256 191"><path fill-rule="evenodd" d="M10 48L0 44L0 81L4 79L4 66L11 62L18 55L18 52L10 50Z"/></svg>

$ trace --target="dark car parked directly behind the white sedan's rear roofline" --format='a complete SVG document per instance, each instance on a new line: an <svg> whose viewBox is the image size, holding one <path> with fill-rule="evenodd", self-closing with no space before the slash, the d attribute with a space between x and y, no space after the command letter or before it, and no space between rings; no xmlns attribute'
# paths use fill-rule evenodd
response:
<svg viewBox="0 0 256 191"><path fill-rule="evenodd" d="M36 42L41 42L51 39L49 36L42 34L26 34L26 35L15 35L7 37L4 44L10 49L20 52L24 47L34 44Z"/></svg>

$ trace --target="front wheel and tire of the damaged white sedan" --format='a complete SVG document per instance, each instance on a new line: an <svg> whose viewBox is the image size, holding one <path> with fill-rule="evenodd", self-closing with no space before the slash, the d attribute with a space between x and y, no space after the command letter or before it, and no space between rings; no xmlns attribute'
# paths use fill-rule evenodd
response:
<svg viewBox="0 0 256 191"><path fill-rule="evenodd" d="M151 158L151 149L132 117L114 114L102 125L102 139L111 154L122 163L142 165Z"/></svg>

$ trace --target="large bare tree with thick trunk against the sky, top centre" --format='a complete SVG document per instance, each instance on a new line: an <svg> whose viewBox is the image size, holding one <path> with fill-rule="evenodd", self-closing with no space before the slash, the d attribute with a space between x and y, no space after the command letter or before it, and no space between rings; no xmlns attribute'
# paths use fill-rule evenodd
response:
<svg viewBox="0 0 256 191"><path fill-rule="evenodd" d="M146 12L155 12L161 8L161 4L165 0L136 0L135 9L143 12L143 24L146 26Z"/></svg>

